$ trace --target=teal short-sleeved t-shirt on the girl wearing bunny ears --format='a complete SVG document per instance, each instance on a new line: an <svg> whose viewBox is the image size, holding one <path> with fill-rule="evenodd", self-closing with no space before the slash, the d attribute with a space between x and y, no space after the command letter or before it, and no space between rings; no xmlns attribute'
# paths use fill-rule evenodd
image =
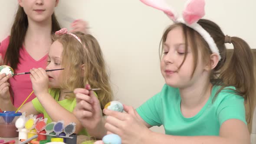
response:
<svg viewBox="0 0 256 144"><path fill-rule="evenodd" d="M211 96L197 115L184 118L181 113L181 96L178 88L164 85L136 109L141 118L151 126L164 126L165 134L180 136L219 135L221 124L228 119L246 123L244 98L224 88L213 101L220 86L213 86Z"/></svg>

